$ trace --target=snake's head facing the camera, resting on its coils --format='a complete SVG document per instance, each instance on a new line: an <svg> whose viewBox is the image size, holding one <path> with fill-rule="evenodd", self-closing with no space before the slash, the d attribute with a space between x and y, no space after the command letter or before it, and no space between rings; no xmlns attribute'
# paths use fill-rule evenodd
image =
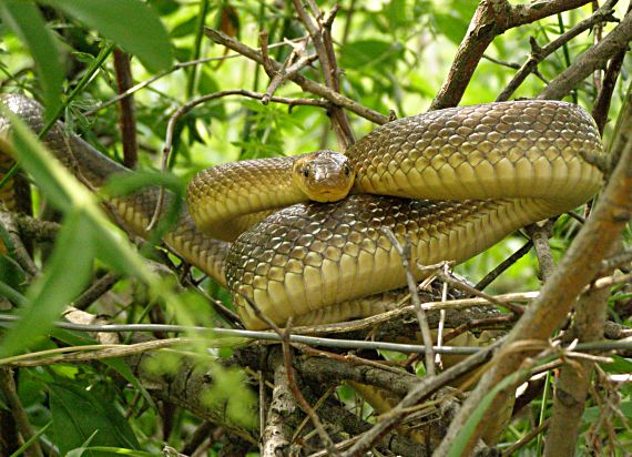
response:
<svg viewBox="0 0 632 457"><path fill-rule="evenodd" d="M356 172L346 155L316 151L297 156L292 167L294 183L315 202L343 200L354 185Z"/></svg>

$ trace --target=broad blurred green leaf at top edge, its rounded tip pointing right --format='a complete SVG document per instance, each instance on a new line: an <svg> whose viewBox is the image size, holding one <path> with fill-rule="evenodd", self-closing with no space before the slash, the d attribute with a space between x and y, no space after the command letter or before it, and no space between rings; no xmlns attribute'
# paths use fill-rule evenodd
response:
<svg viewBox="0 0 632 457"><path fill-rule="evenodd" d="M152 72L167 70L174 51L156 13L139 0L42 0L135 54Z"/></svg>

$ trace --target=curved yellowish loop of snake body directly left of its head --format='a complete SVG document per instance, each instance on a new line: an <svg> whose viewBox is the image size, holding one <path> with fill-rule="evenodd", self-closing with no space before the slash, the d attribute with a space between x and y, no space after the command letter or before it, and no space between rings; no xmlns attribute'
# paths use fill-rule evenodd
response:
<svg viewBox="0 0 632 457"><path fill-rule="evenodd" d="M234 241L275 210L308 201L293 182L297 158L245 160L204 170L188 184L191 216L210 236Z"/></svg>

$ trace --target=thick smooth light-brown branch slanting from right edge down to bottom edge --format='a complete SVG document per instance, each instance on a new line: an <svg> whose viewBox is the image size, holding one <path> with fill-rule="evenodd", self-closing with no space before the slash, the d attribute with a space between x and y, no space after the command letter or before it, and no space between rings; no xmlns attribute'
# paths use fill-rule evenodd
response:
<svg viewBox="0 0 632 457"><path fill-rule="evenodd" d="M529 306L527 313L507 336L503 351L491 370L482 377L479 386L463 404L450 425L448 435L438 453L447 454L463 424L479 405L481 398L503 378L516 372L532 353L517 351L518 345L527 339L546 341L565 318L574 305L577 296L584 285L592 281L601 268L603 255L616 243L619 235L632 215L632 97L628 94L625 114L620 124L618 143L621 159L611 176L599 205L587 221L573 244L567 252L553 275L549 278L539 297ZM618 151L614 151L615 155ZM493 412L504 398L497 396L488 412ZM483 418L479 424L485 424ZM472 434L466 453L471 453L473 444L481 435L481 428Z"/></svg>

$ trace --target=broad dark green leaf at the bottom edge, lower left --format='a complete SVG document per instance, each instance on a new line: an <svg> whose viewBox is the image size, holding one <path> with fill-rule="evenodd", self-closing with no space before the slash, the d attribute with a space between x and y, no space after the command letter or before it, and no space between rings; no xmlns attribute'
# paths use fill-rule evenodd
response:
<svg viewBox="0 0 632 457"><path fill-rule="evenodd" d="M84 447L89 439L91 446L140 448L128 420L98 388L55 383L49 386L49 392L53 434L61 455ZM108 454L86 451L84 455Z"/></svg>

